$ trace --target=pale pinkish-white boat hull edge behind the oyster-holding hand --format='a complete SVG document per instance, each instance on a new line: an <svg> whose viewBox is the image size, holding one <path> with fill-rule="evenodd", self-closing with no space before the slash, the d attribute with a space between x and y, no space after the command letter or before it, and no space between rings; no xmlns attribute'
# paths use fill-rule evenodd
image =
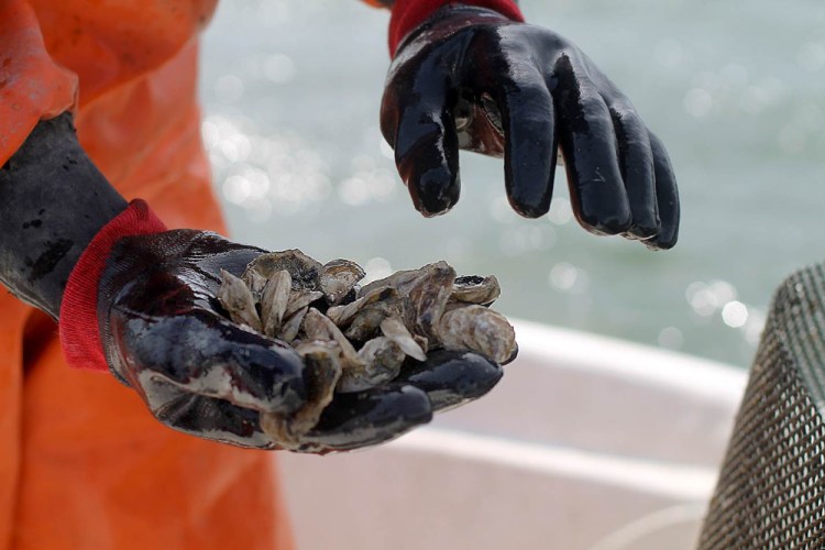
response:
<svg viewBox="0 0 825 550"><path fill-rule="evenodd" d="M480 402L374 450L280 455L300 549L694 547L746 373L515 326Z"/></svg>

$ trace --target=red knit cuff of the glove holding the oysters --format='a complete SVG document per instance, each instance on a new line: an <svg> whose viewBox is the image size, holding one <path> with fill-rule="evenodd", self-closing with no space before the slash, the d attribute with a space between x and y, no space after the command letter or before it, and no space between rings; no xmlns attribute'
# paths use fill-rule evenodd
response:
<svg viewBox="0 0 825 550"><path fill-rule="evenodd" d="M114 243L124 237L166 231L166 226L135 199L98 231L69 275L61 304L61 345L69 366L108 371L98 327L98 284Z"/></svg>

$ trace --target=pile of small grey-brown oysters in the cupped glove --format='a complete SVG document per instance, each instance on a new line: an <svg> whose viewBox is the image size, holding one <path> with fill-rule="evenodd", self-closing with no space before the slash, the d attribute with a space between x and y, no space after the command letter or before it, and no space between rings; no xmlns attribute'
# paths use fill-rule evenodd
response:
<svg viewBox="0 0 825 550"><path fill-rule="evenodd" d="M229 318L295 348L309 395L296 414L262 414L261 426L286 448L298 444L336 392L395 378L407 358L433 349L470 350L504 363L513 327L488 309L499 295L490 277L457 277L446 262L400 271L361 287L354 262L321 264L299 250L263 254L239 278L223 271L218 299Z"/></svg>

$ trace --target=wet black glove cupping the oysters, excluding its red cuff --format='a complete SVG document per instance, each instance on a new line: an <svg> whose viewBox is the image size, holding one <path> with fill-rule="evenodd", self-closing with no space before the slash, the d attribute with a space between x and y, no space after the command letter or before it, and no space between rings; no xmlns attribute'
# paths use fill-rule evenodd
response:
<svg viewBox="0 0 825 550"><path fill-rule="evenodd" d="M107 362L152 414L177 430L226 443L277 449L260 413L289 414L307 396L302 363L287 344L227 319L220 270L240 276L265 253L217 234L176 230L127 237L101 277L98 319ZM382 387L338 394L301 450L376 444L480 397L502 370L481 355L436 352Z"/></svg>

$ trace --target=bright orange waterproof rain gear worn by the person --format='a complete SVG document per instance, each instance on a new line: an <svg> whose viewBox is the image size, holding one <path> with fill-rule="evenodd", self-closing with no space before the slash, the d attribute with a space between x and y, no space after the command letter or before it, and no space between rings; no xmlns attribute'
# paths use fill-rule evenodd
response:
<svg viewBox="0 0 825 550"><path fill-rule="evenodd" d="M74 109L127 199L169 228L223 232L196 100L213 9L0 0L0 166L38 120ZM272 453L162 426L112 376L67 367L52 320L1 287L0 449L0 550L293 548Z"/></svg>

